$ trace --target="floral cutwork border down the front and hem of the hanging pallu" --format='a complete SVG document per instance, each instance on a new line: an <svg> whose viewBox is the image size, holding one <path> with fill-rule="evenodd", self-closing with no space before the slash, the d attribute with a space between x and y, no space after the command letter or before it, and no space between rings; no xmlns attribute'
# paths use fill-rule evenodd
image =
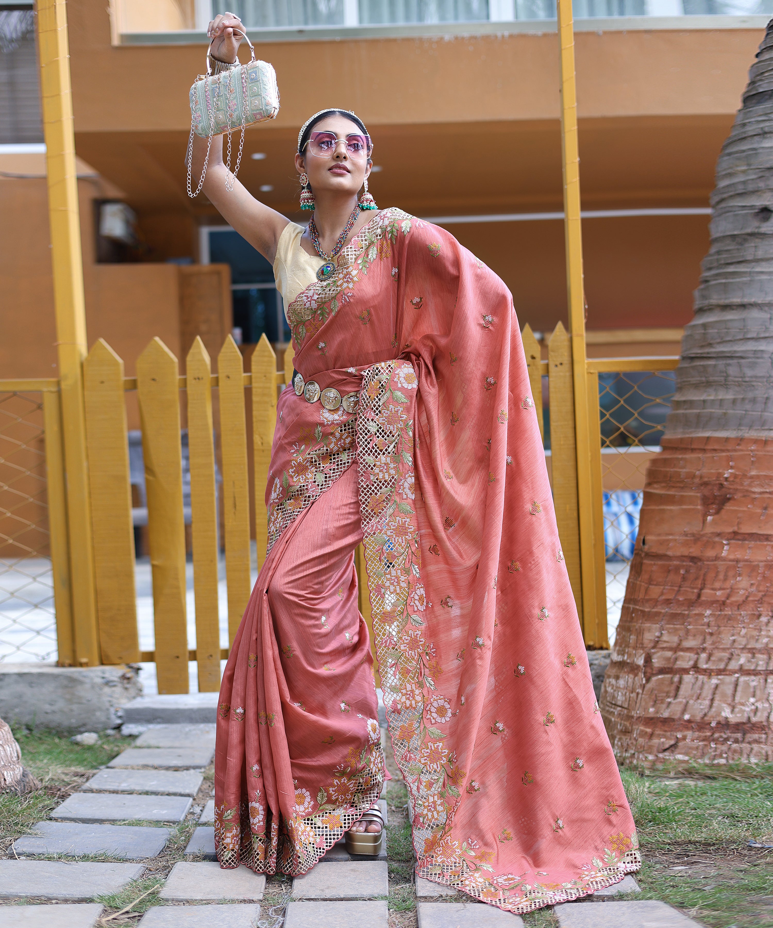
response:
<svg viewBox="0 0 773 928"><path fill-rule="evenodd" d="M571 882L524 883L525 874L489 876L494 853L452 836L467 772L458 767L457 755L444 748L447 735L438 728L450 720L450 702L438 691L443 668L425 637L421 617L428 604L421 582L413 464L412 414L418 385L407 361L371 367L363 378L357 410L371 618L394 758L413 809L416 872L500 909L525 913L619 883L626 872L641 866L638 839L636 833L612 835L612 847L599 850L582 877ZM582 761L579 764L582 767ZM474 785L470 781L468 792ZM504 830L500 835L501 841L511 838Z"/></svg>

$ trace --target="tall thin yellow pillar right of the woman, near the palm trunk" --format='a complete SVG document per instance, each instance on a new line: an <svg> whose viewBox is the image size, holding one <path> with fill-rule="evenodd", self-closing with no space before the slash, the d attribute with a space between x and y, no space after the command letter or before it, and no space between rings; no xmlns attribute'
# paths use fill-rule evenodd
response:
<svg viewBox="0 0 773 928"><path fill-rule="evenodd" d="M572 343L574 432L582 574L580 622L583 626L586 644L592 644L596 626L597 590L593 566L592 456L588 437L589 409L586 399L586 301L583 287L580 152L577 143L577 88L574 71L572 0L558 0L558 23L566 287L569 303L569 336Z"/></svg>

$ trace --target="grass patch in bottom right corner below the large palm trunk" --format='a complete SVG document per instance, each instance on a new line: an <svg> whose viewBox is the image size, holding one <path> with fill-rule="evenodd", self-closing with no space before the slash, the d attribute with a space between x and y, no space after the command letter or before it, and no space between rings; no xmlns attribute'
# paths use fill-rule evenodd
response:
<svg viewBox="0 0 773 928"><path fill-rule="evenodd" d="M773 765L624 770L644 864L630 898L662 899L710 928L773 928ZM610 905L610 903L606 903Z"/></svg>

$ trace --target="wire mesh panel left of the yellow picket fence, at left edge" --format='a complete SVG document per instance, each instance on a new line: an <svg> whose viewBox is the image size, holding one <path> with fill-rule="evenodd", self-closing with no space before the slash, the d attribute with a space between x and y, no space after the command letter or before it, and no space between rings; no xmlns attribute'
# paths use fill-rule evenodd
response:
<svg viewBox="0 0 773 928"><path fill-rule="evenodd" d="M57 659L40 393L0 392L0 662Z"/></svg>

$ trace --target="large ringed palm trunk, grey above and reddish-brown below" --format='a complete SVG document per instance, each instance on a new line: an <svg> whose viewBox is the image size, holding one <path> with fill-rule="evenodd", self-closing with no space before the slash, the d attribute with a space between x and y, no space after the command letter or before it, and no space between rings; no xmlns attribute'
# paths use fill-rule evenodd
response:
<svg viewBox="0 0 773 928"><path fill-rule="evenodd" d="M773 760L773 20L712 207L600 699L649 766Z"/></svg>

